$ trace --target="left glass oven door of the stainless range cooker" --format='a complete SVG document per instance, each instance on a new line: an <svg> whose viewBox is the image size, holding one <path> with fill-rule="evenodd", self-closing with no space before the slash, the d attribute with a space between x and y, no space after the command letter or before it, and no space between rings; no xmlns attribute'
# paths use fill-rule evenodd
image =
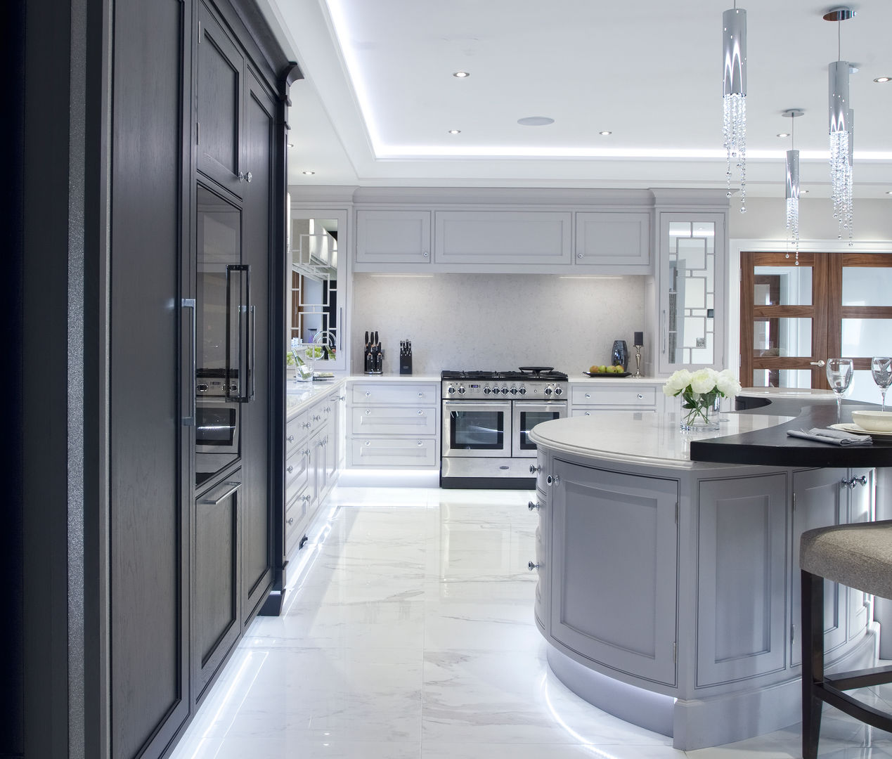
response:
<svg viewBox="0 0 892 759"><path fill-rule="evenodd" d="M443 456L511 455L511 401L443 401Z"/></svg>

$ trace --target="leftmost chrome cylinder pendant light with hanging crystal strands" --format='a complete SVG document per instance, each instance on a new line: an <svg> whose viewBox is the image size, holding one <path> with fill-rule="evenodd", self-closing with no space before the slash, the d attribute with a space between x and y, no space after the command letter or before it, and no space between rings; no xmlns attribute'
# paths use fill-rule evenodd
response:
<svg viewBox="0 0 892 759"><path fill-rule="evenodd" d="M740 174L740 212L747 210L747 12L737 4L722 14L724 102L723 137L728 155L728 197L731 163Z"/></svg>

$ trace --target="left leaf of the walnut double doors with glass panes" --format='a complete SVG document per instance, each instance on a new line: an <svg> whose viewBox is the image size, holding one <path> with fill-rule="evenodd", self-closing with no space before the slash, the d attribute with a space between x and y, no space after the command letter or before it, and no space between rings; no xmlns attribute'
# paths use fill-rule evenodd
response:
<svg viewBox="0 0 892 759"><path fill-rule="evenodd" d="M814 253L740 254L740 382L826 388L827 268Z"/></svg>

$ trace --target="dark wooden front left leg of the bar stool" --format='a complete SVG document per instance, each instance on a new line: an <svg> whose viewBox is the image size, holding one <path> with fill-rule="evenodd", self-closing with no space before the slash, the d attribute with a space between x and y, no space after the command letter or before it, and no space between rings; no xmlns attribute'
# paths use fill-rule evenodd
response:
<svg viewBox="0 0 892 759"><path fill-rule="evenodd" d="M824 680L824 579L802 572L802 755L816 759L823 701L817 683Z"/></svg>

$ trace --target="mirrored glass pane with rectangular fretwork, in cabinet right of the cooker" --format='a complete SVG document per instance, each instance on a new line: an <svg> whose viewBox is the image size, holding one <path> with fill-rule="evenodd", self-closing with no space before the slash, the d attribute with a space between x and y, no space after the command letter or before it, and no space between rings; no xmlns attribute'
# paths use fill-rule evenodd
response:
<svg viewBox="0 0 892 759"><path fill-rule="evenodd" d="M671 364L714 361L715 225L669 223L668 355Z"/></svg>

